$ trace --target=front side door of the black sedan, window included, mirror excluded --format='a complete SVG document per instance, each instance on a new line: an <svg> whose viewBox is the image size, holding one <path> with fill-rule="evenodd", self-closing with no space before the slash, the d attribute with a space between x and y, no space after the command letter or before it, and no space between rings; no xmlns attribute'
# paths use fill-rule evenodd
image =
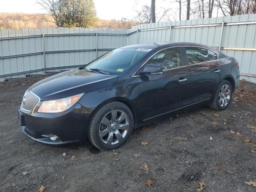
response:
<svg viewBox="0 0 256 192"><path fill-rule="evenodd" d="M139 107L142 121L168 114L172 110L186 106L188 71L184 55L180 47L166 48L152 56L147 64L158 64L163 67L161 74L138 76ZM138 71L138 74L140 72Z"/></svg>

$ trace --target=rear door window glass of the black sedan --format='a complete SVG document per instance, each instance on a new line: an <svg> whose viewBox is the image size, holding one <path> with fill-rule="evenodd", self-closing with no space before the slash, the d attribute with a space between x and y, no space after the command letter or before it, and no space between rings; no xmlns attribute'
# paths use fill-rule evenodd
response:
<svg viewBox="0 0 256 192"><path fill-rule="evenodd" d="M209 61L207 49L198 47L185 47L185 49L189 65Z"/></svg>

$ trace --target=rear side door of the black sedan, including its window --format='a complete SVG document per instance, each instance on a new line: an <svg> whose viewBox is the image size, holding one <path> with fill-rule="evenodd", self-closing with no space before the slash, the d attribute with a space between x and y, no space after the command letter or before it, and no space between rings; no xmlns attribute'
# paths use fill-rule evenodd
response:
<svg viewBox="0 0 256 192"><path fill-rule="evenodd" d="M185 47L188 64L188 104L210 99L220 80L218 54L202 47Z"/></svg>

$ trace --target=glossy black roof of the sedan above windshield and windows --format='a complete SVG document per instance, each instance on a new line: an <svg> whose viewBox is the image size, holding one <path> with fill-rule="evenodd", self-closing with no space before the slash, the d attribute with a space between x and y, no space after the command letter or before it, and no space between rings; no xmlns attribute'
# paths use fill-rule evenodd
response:
<svg viewBox="0 0 256 192"><path fill-rule="evenodd" d="M158 43L146 43L146 44L136 44L128 45L122 48L149 48L149 49L162 49L169 46L200 46L208 49L214 49L210 46L199 44L199 43L190 43L190 42L158 42Z"/></svg>

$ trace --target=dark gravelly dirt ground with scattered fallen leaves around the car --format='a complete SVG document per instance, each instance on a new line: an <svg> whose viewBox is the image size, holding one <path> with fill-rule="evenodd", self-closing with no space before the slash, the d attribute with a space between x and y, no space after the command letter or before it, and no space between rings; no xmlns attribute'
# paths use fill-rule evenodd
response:
<svg viewBox="0 0 256 192"><path fill-rule="evenodd" d="M218 117L208 107L190 110L138 128L124 146L104 152L90 143L44 145L21 132L22 96L45 77L0 82L0 191L198 192L199 182L204 192L256 191L245 183L256 182L256 84L241 81Z"/></svg>

